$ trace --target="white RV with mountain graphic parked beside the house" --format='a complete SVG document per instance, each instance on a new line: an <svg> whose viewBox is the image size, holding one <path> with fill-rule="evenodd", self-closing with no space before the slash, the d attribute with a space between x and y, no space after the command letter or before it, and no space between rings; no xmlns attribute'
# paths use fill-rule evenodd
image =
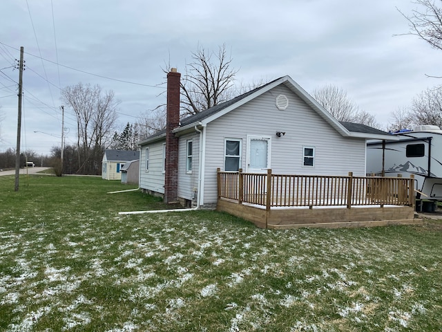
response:
<svg viewBox="0 0 442 332"><path fill-rule="evenodd" d="M442 130L423 125L392 135L398 140L367 142L367 173L416 178L416 199L442 201Z"/></svg>

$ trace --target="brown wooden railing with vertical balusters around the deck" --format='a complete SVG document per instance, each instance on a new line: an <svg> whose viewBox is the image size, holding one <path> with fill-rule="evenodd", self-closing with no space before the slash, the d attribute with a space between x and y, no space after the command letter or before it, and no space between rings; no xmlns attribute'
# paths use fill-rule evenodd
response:
<svg viewBox="0 0 442 332"><path fill-rule="evenodd" d="M218 197L271 207L343 205L410 205L413 178L320 176L221 172Z"/></svg>

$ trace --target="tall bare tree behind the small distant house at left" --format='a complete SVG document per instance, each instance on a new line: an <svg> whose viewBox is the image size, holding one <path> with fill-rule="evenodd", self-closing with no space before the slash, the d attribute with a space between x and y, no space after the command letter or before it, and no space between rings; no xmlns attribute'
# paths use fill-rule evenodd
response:
<svg viewBox="0 0 442 332"><path fill-rule="evenodd" d="M102 92L98 85L81 83L63 89L61 99L77 118L78 172L99 174L102 153L111 143L119 102L113 91Z"/></svg>

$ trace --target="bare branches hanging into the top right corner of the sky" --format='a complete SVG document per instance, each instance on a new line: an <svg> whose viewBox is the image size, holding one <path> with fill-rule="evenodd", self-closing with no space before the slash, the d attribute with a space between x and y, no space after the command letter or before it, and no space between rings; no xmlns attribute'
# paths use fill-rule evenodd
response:
<svg viewBox="0 0 442 332"><path fill-rule="evenodd" d="M419 6L419 9L412 10L411 15L405 15L410 32L407 35L416 35L425 40L432 48L442 50L442 1L416 0L412 1ZM436 4L439 3L439 6ZM442 78L442 77L439 77Z"/></svg>

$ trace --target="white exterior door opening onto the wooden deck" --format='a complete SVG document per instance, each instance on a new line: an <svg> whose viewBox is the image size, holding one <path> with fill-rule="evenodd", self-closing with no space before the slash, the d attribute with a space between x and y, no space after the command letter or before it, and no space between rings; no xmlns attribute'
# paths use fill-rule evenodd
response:
<svg viewBox="0 0 442 332"><path fill-rule="evenodd" d="M267 173L270 168L270 137L249 136L247 142L247 172Z"/></svg>

